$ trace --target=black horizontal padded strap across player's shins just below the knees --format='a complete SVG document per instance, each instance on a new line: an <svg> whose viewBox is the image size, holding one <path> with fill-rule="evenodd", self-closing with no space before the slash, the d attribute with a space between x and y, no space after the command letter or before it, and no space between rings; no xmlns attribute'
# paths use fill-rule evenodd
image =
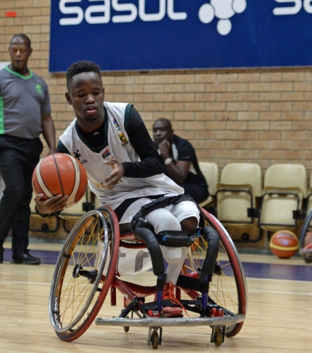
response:
<svg viewBox="0 0 312 353"><path fill-rule="evenodd" d="M171 248L191 246L197 239L196 230L164 230L156 234L158 243Z"/></svg>

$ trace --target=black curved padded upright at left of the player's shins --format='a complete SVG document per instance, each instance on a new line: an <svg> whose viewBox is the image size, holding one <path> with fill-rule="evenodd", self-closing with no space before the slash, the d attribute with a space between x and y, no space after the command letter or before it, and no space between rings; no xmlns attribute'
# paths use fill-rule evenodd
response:
<svg viewBox="0 0 312 353"><path fill-rule="evenodd" d="M139 227L135 229L135 239L142 240L146 244L146 248L151 256L151 265L153 273L156 276L165 275L165 264L163 263L163 253L161 246L151 229Z"/></svg>

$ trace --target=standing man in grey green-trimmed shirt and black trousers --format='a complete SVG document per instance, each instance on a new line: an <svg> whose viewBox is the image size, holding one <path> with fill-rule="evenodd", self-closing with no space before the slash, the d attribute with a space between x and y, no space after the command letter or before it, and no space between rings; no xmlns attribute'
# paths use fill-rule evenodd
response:
<svg viewBox="0 0 312 353"><path fill-rule="evenodd" d="M11 229L11 262L37 265L40 259L27 250L32 172L43 149L41 133L49 154L56 152L54 122L48 87L27 67L29 37L14 35L8 52L11 64L0 71L0 173L6 185L0 201L0 263Z"/></svg>

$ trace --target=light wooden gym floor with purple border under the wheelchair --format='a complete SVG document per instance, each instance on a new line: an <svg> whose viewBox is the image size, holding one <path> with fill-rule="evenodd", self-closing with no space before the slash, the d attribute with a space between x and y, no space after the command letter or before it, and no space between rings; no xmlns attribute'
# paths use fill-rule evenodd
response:
<svg viewBox="0 0 312 353"><path fill-rule="evenodd" d="M42 258L39 266L11 264L11 244L6 242L5 247L5 261L0 265L0 352L153 351L146 342L147 328L130 328L125 333L123 328L93 323L74 342L59 340L49 322L48 301L61 244L30 244L32 255ZM312 264L299 256L282 260L241 253L240 257L249 290L247 319L240 333L215 347L210 343L210 328L163 328L158 352L311 352ZM141 284L155 284L152 273L135 277ZM118 315L110 310L111 316Z"/></svg>

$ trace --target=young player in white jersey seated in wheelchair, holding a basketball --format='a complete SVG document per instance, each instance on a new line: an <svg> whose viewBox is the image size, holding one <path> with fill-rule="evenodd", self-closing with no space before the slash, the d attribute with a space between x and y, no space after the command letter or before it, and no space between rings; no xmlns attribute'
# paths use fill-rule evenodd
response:
<svg viewBox="0 0 312 353"><path fill-rule="evenodd" d="M161 299L176 302L173 289L189 245L196 239L200 210L163 174L163 160L135 107L104 102L99 66L79 61L68 68L66 80L65 97L73 106L75 119L60 137L57 152L83 163L90 189L101 205L115 211L120 225L132 222L135 237L149 249ZM42 196L35 198L39 215L55 215L65 209L67 196L46 201ZM163 258L168 263L166 274ZM165 307L161 316L181 317L182 308Z"/></svg>

